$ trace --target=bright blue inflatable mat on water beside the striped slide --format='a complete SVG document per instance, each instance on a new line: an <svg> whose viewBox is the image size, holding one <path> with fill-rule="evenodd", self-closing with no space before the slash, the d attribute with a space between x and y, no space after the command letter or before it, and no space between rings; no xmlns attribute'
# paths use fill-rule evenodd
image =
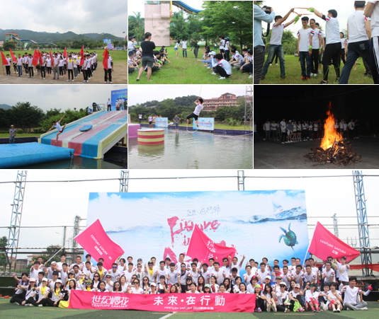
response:
<svg viewBox="0 0 379 319"><path fill-rule="evenodd" d="M74 149L34 143L1 144L0 168L20 168L72 158Z"/></svg>

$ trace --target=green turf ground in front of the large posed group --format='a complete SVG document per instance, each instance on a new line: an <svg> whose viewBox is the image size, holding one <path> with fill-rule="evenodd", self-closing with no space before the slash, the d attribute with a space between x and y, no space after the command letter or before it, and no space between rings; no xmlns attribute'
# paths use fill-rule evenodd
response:
<svg viewBox="0 0 379 319"><path fill-rule="evenodd" d="M342 311L341 313L152 313L148 311L98 311L98 310L79 310L79 309L62 309L51 307L25 307L16 306L9 303L9 299L0 298L0 317L1 319L254 319L254 318L312 318L312 319L329 319L329 318L351 318L351 319L375 319L378 318L379 303L369 303L368 311Z"/></svg>

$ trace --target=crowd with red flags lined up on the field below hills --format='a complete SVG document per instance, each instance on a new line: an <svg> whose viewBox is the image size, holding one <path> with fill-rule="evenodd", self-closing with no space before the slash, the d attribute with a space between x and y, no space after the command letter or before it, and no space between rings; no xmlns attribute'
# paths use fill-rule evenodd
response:
<svg viewBox="0 0 379 319"><path fill-rule="evenodd" d="M34 54L25 52L21 56L18 54L16 61L13 61L9 54L6 55L6 76L11 76L11 66L13 66L13 74L18 77L27 76L33 79L35 76L40 79L52 77L52 80L62 80L68 76L67 81L74 82L79 76L83 76L83 82L89 82L98 66L98 54L94 52L84 52L84 62L81 62L81 54L79 52L40 52L38 64L33 65ZM112 83L113 59L108 52L108 68L105 69L104 83ZM109 78L109 79L108 79ZM77 80L78 81L78 80Z"/></svg>

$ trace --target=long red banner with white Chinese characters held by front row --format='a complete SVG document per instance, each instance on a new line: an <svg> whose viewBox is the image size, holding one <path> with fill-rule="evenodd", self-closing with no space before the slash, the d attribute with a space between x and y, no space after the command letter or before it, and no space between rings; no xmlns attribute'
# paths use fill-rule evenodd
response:
<svg viewBox="0 0 379 319"><path fill-rule="evenodd" d="M254 294L123 294L72 290L69 308L254 313Z"/></svg>

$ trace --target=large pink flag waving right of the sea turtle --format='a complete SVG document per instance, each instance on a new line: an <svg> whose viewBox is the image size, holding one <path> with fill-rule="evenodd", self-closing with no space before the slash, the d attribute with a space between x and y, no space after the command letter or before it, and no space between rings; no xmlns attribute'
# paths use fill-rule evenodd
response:
<svg viewBox="0 0 379 319"><path fill-rule="evenodd" d="M355 259L361 254L358 250L355 250L334 236L319 221L317 221L315 226L315 232L313 233L308 252L322 260L327 260L328 256L334 258L346 257L346 262Z"/></svg>

